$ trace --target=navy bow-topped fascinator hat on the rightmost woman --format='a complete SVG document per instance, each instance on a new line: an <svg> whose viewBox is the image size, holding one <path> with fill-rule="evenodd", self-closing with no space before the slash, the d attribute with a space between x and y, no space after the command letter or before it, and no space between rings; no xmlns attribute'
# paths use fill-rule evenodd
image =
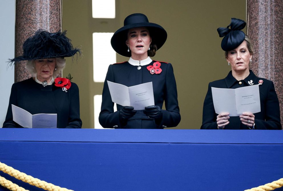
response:
<svg viewBox="0 0 283 191"><path fill-rule="evenodd" d="M231 18L231 23L227 28L217 28L219 37L223 37L221 48L230 51L237 48L245 40L245 33L241 31L245 28L246 22L241 19ZM229 28L230 27L230 28Z"/></svg>

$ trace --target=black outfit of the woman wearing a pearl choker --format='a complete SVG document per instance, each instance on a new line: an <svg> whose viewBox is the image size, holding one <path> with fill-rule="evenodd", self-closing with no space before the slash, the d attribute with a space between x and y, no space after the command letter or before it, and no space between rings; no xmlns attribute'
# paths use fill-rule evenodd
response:
<svg viewBox="0 0 283 191"><path fill-rule="evenodd" d="M57 114L57 128L81 128L78 86L71 83L67 91L54 84L43 87L32 78L14 83L3 128L22 128L13 121L11 104L31 114Z"/></svg>

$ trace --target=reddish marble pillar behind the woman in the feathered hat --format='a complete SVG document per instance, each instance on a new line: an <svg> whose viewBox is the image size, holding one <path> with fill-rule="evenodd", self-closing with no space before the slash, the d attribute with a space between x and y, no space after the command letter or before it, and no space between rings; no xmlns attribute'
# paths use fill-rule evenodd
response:
<svg viewBox="0 0 283 191"><path fill-rule="evenodd" d="M23 55L23 43L38 29L61 29L61 0L16 0L15 57ZM31 77L26 62L15 64L15 82Z"/></svg>

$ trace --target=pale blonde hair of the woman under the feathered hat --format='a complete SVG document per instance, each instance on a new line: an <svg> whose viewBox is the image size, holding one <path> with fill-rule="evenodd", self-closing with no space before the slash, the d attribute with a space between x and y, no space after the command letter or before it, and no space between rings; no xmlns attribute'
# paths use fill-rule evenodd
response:
<svg viewBox="0 0 283 191"><path fill-rule="evenodd" d="M56 78L59 76L60 72L64 69L66 66L66 59L63 57L56 57L56 70L53 71L53 77ZM37 74L37 71L35 69L35 60L28 60L26 64L26 69L31 73L32 77L35 77Z"/></svg>

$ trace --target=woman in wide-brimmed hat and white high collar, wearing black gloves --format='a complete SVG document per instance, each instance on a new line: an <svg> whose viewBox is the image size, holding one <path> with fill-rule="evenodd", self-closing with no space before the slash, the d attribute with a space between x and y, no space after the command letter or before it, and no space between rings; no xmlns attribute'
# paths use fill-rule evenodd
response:
<svg viewBox="0 0 283 191"><path fill-rule="evenodd" d="M177 100L176 81L170 63L152 60L167 38L166 31L158 24L148 22L145 15L135 13L124 20L111 39L113 49L129 61L110 65L104 82L99 122L104 128L162 129L177 126L181 120ZM152 82L154 106L134 110L130 106L111 100L107 80L128 87ZM162 109L165 101L166 110Z"/></svg>

